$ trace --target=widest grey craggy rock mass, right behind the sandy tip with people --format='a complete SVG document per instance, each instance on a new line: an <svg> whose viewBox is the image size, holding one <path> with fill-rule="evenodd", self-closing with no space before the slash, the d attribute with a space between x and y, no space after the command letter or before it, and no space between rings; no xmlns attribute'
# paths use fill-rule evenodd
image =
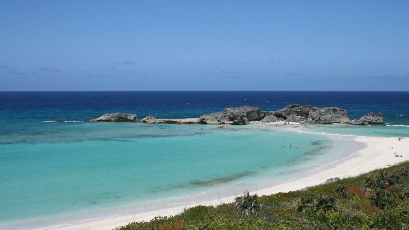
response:
<svg viewBox="0 0 409 230"><path fill-rule="evenodd" d="M337 107L317 108L310 105L288 105L266 115L262 122L298 122L306 124L348 123L348 112Z"/></svg>

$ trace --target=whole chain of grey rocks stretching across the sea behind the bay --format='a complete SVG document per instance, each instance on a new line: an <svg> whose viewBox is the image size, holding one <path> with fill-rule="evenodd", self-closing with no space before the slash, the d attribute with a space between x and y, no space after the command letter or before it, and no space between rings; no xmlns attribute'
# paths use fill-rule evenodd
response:
<svg viewBox="0 0 409 230"><path fill-rule="evenodd" d="M135 120L137 115L129 113L106 113L101 117L85 122L143 122L165 124L230 124L245 125L250 122L296 122L300 124L383 124L383 114L367 113L359 120L350 120L348 111L337 107L312 107L291 104L277 111L260 111L259 107L249 105L225 108L221 112L204 114L198 118L162 119L153 116Z"/></svg>

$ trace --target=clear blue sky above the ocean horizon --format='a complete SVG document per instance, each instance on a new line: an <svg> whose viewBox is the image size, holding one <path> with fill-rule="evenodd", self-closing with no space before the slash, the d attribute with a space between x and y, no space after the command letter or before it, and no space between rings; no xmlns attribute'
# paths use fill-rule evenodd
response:
<svg viewBox="0 0 409 230"><path fill-rule="evenodd" d="M409 1L0 0L0 91L408 90Z"/></svg>

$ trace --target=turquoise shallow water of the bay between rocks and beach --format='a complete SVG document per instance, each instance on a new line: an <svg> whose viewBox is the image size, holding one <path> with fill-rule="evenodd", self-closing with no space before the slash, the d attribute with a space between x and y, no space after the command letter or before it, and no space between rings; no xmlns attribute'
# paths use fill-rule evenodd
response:
<svg viewBox="0 0 409 230"><path fill-rule="evenodd" d="M29 218L26 227L46 227L71 223L70 216L86 220L96 209L245 189L255 180L262 187L302 167L314 169L337 144L325 135L258 125L45 126L57 131L2 138L0 223L22 227L27 220L19 220ZM305 148L295 149L299 145Z"/></svg>

